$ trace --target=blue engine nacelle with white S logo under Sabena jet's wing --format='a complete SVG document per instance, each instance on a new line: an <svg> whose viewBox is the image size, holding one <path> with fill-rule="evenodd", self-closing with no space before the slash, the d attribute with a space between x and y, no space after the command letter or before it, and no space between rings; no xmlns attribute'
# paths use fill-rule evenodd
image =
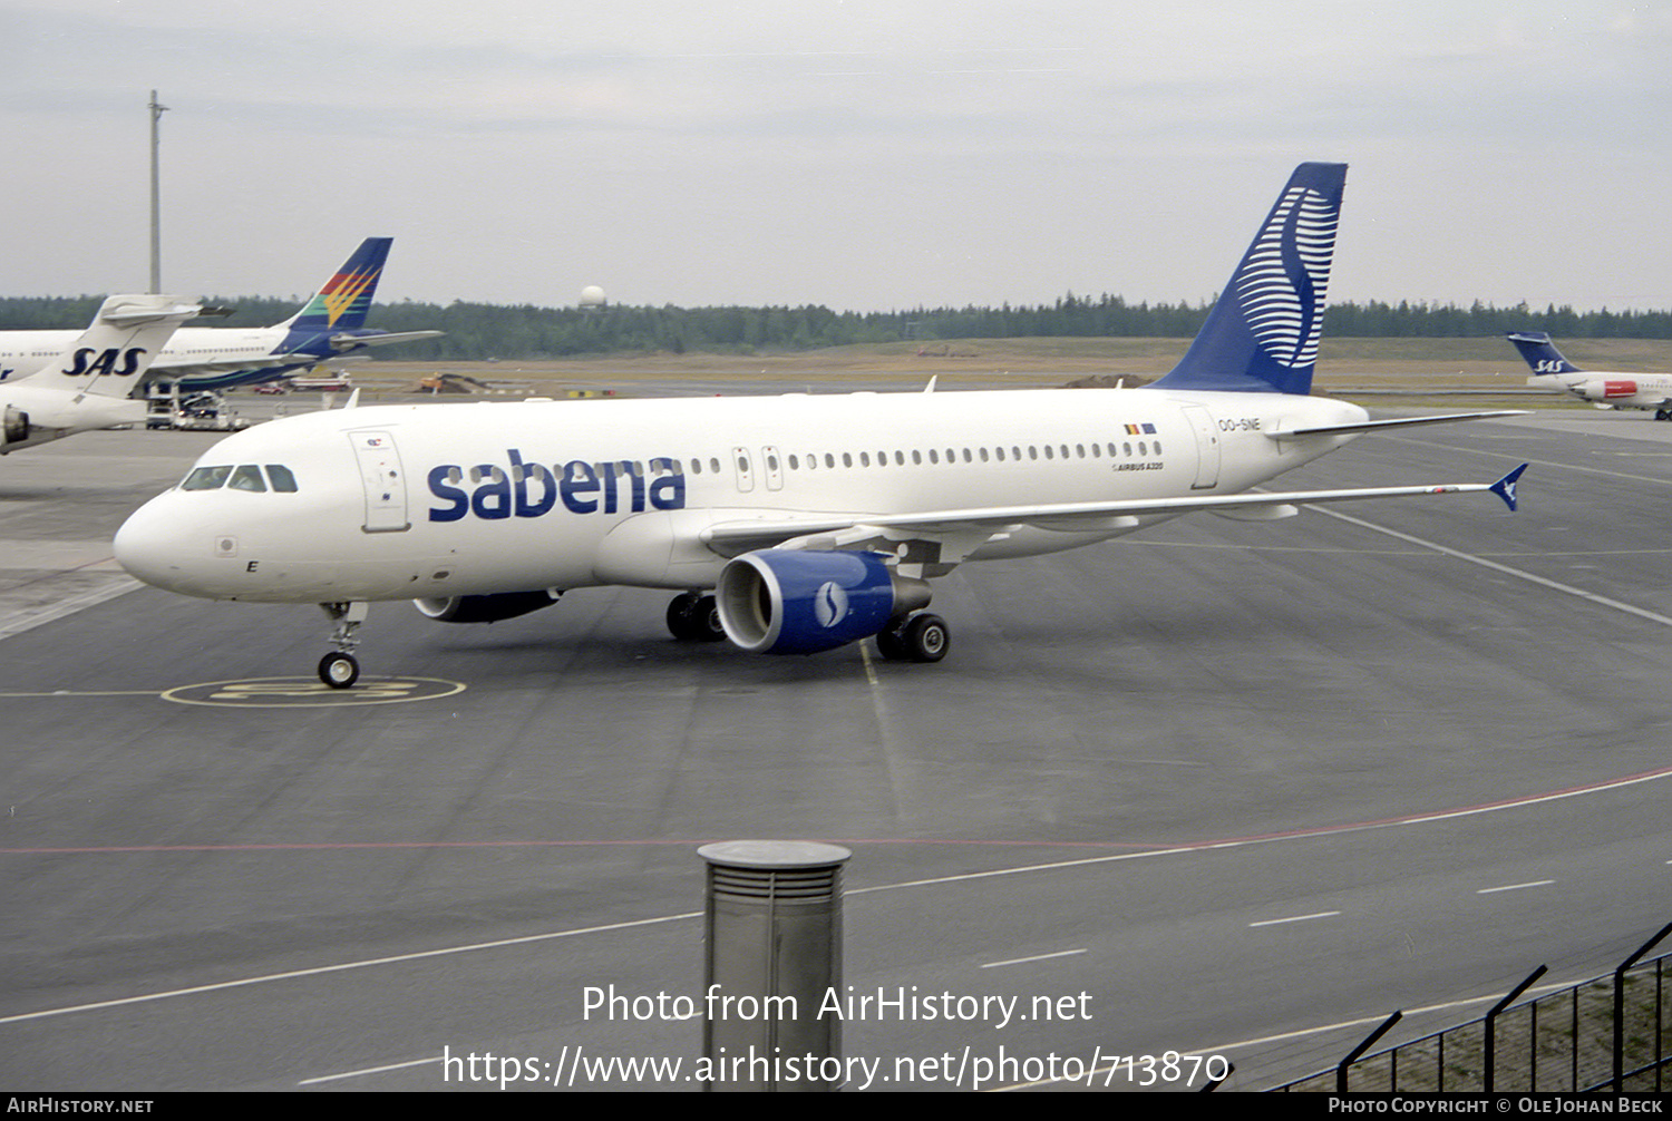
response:
<svg viewBox="0 0 1672 1121"><path fill-rule="evenodd" d="M752 653L818 653L869 638L930 601L876 553L759 550L721 571L714 588L726 637Z"/></svg>

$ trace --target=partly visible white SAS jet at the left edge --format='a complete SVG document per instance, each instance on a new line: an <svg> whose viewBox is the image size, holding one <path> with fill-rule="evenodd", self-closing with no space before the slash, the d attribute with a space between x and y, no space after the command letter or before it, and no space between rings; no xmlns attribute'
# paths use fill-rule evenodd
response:
<svg viewBox="0 0 1672 1121"><path fill-rule="evenodd" d="M177 296L110 296L64 353L20 381L0 384L0 456L115 424L144 424L134 383L199 307Z"/></svg>

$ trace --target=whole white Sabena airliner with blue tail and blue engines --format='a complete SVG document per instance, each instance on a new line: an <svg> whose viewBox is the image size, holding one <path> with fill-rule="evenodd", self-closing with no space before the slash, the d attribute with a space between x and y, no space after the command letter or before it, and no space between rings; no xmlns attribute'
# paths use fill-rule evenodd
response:
<svg viewBox="0 0 1672 1121"><path fill-rule="evenodd" d="M124 568L214 600L321 603L333 687L366 601L445 621L563 590L679 590L679 638L813 653L874 637L940 660L930 580L1104 541L1199 510L1486 484L1244 493L1371 421L1309 396L1341 164L1302 164L1179 366L1145 389L1038 389L336 409L231 436L115 538ZM1481 413L1473 416L1501 416ZM711 591L712 590L712 591Z"/></svg>

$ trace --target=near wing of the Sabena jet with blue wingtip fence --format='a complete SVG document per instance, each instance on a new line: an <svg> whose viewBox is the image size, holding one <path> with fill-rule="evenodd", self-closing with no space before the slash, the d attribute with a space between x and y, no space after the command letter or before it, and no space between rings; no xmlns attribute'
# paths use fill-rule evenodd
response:
<svg viewBox="0 0 1672 1121"><path fill-rule="evenodd" d="M1124 498L1102 503L1043 503L930 510L901 515L809 515L782 520L724 521L707 526L701 540L721 556L759 548L868 548L878 538L958 543L968 555L1010 526L1038 526L1065 533L1125 530L1145 515L1224 513L1242 518L1281 518L1309 503L1364 498L1415 498L1418 495L1470 495L1491 491L1517 508L1517 483L1523 463L1496 483L1438 483L1426 486L1371 486L1339 491L1264 491L1249 495L1190 495L1182 498ZM955 563L955 561L953 561Z"/></svg>

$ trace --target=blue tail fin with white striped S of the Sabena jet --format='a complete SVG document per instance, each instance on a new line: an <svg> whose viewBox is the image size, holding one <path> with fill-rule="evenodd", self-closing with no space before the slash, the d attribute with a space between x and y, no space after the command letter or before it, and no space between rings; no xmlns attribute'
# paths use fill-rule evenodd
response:
<svg viewBox="0 0 1672 1121"><path fill-rule="evenodd" d="M1157 389L1313 391L1346 164L1301 164Z"/></svg>

